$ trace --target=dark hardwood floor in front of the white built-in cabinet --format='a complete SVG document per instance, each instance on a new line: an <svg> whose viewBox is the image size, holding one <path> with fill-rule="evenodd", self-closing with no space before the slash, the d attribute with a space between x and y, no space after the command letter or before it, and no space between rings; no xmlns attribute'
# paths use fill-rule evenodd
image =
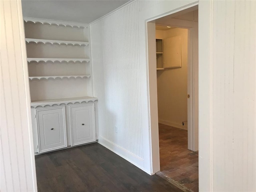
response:
<svg viewBox="0 0 256 192"><path fill-rule="evenodd" d="M36 156L38 192L182 192L98 143Z"/></svg>

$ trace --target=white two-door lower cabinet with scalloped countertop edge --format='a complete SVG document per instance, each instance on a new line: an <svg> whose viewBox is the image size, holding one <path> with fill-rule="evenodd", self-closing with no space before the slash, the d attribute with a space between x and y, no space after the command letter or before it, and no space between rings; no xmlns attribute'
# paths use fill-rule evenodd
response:
<svg viewBox="0 0 256 192"><path fill-rule="evenodd" d="M31 103L34 152L44 153L95 142L95 102L82 97Z"/></svg>

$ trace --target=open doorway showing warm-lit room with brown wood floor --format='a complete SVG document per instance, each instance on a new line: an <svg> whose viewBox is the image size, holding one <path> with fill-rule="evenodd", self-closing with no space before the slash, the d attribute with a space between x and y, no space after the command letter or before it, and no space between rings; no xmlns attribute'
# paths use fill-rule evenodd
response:
<svg viewBox="0 0 256 192"><path fill-rule="evenodd" d="M149 53L152 30L156 32L160 142L160 172L156 174L183 190L198 191L198 7L148 22ZM161 40L163 55L157 50ZM167 42L180 44L174 49L180 54L175 64L168 63L172 53Z"/></svg>

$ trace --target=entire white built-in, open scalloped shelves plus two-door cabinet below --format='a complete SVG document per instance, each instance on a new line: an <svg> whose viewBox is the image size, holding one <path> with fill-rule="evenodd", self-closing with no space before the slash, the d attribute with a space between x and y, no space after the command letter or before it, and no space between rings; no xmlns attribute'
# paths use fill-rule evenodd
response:
<svg viewBox="0 0 256 192"><path fill-rule="evenodd" d="M87 24L24 18L35 152L96 141Z"/></svg>

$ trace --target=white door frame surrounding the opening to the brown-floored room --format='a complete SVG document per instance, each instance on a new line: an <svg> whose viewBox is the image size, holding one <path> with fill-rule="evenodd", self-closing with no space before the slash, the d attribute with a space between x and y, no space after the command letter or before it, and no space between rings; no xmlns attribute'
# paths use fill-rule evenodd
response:
<svg viewBox="0 0 256 192"><path fill-rule="evenodd" d="M149 162L145 161L145 166L150 166L151 174L158 172L160 169L159 161L159 138L158 125L154 124L154 115L157 108L152 108L154 99L157 98L156 85L150 84L153 80L149 78L150 74L155 73L148 60L149 52L147 41L147 22L156 20L166 15L170 15L181 10L198 5L198 137L199 137L199 189L200 191L212 191L213 184L213 157L212 157L212 20L213 20L213 0L194 1L187 4L181 4L183 1L177 1L176 4L162 6L161 11L157 10L158 6L140 14L141 23L144 26L140 28L140 35L145 38L141 40L140 49L144 52L146 58L141 57L140 62L146 62L146 83L147 83L147 106L148 106L148 132L144 131L144 148L148 148L145 156L149 156ZM180 5L178 5L180 3ZM142 42L143 41L143 42ZM155 53L154 53L155 54ZM146 60L144 60L146 59ZM143 74L143 71L142 71ZM153 102L152 102L153 101ZM142 106L144 106L142 102ZM157 116L156 116L157 117Z"/></svg>

